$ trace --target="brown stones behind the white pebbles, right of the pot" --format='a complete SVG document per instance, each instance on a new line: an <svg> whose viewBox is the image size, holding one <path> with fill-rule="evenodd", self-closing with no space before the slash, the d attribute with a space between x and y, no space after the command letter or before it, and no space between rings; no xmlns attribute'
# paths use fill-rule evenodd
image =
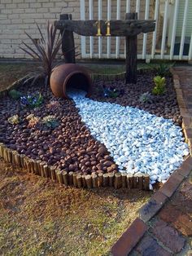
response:
<svg viewBox="0 0 192 256"><path fill-rule="evenodd" d="M163 95L153 95L153 101L151 104L140 102L139 98L143 93L151 93L155 84L153 78L155 77L153 71L147 71L145 73L138 74L137 84L125 85L124 81L97 81L94 82L92 99L120 104L122 106L132 106L134 108L140 108L155 114L158 117L164 117L172 119L176 125L181 126L182 117L177 104L177 95L173 86L172 77L166 77L166 90ZM113 87L116 90L124 91L120 97L109 98L104 97L103 86ZM152 95L152 93L151 93Z"/></svg>

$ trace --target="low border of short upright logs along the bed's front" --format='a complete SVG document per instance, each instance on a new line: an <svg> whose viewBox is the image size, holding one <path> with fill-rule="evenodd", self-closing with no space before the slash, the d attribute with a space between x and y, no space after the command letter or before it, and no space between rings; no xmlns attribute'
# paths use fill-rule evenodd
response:
<svg viewBox="0 0 192 256"><path fill-rule="evenodd" d="M82 174L56 169L55 166L48 166L45 161L34 160L19 154L15 150L7 148L4 143L0 143L0 157L12 166L22 168L31 174L36 174L42 178L52 179L55 183L75 188L127 188L128 190L137 188L139 190L149 190L149 174L127 174L127 173L92 173Z"/></svg>

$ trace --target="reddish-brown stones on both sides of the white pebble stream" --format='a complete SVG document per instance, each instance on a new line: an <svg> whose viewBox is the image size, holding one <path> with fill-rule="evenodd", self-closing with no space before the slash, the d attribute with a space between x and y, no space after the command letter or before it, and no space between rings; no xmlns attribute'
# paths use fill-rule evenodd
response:
<svg viewBox="0 0 192 256"><path fill-rule="evenodd" d="M105 82L107 86L116 86L124 90L124 95L114 98L103 98L100 90L103 82L95 82L92 99L142 108L159 117L171 118L181 125L181 116L177 105L176 93L172 78L166 77L166 93L155 96L152 104L141 104L139 97L154 87L153 73L138 75L137 85L124 85L124 81ZM50 166L61 170L76 171L90 174L91 172L116 172L113 159L107 148L90 135L89 129L81 121L78 110L72 100L58 99L52 95L49 87L38 82L33 87L20 86L24 95L41 92L44 102L40 108L23 108L20 101L8 96L0 101L0 142L35 160L46 161ZM54 104L53 104L54 101ZM20 117L20 123L11 125L7 119L15 114ZM50 129L46 126L28 127L26 117L34 114L36 117L55 115L59 126Z"/></svg>

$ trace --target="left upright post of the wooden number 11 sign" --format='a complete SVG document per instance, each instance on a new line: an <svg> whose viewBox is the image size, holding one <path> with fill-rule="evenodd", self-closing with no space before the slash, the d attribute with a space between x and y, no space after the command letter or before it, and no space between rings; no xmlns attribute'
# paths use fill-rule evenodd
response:
<svg viewBox="0 0 192 256"><path fill-rule="evenodd" d="M60 20L72 20L71 14L60 15ZM76 63L76 52L75 52L75 42L72 31L60 29L62 38L62 52L64 55L65 63Z"/></svg>

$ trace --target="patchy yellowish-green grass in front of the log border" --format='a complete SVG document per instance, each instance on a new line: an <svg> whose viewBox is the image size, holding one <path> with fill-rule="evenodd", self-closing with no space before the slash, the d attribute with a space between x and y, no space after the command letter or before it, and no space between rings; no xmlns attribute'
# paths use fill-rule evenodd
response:
<svg viewBox="0 0 192 256"><path fill-rule="evenodd" d="M0 162L1 255L109 255L151 192L65 188Z"/></svg>

